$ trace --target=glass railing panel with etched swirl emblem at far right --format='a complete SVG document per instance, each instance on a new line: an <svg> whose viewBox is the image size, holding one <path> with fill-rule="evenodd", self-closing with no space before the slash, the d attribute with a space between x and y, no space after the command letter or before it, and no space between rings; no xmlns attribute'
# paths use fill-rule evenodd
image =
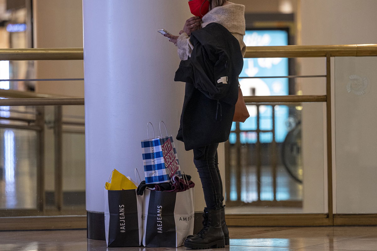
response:
<svg viewBox="0 0 377 251"><path fill-rule="evenodd" d="M377 57L335 58L336 213L377 213Z"/></svg>

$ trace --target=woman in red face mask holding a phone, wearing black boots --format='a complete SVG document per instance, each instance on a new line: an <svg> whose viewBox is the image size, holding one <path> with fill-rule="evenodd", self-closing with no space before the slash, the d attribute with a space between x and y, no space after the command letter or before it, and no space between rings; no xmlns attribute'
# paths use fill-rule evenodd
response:
<svg viewBox="0 0 377 251"><path fill-rule="evenodd" d="M203 229L188 236L194 249L229 245L217 148L228 139L238 98L246 46L245 6L226 0L191 0L189 18L179 36L165 35L178 47L182 60L175 80L186 82L177 139L193 149L206 208Z"/></svg>

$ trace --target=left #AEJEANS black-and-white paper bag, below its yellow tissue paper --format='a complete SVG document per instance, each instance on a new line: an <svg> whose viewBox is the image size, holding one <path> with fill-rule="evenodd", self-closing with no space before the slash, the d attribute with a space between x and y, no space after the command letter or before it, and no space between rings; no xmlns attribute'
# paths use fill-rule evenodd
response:
<svg viewBox="0 0 377 251"><path fill-rule="evenodd" d="M108 247L140 246L143 196L132 190L105 190L105 234Z"/></svg>

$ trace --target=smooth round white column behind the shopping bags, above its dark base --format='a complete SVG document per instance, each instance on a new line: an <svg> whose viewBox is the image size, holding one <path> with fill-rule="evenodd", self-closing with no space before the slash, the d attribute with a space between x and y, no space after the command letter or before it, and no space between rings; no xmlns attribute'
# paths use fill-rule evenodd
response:
<svg viewBox="0 0 377 251"><path fill-rule="evenodd" d="M163 120L175 138L184 83L174 81L176 47L157 30L178 35L191 16L187 1L83 0L87 211L104 211L104 184L114 168L132 178L138 168L143 179L147 122L158 134ZM196 211L202 210L192 151L175 144L181 169L198 185Z"/></svg>

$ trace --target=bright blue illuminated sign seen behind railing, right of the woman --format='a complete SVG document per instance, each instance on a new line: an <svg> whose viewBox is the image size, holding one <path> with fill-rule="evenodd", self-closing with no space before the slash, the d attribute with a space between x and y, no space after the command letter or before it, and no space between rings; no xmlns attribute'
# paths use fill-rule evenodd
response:
<svg viewBox="0 0 377 251"><path fill-rule="evenodd" d="M284 46L288 45L288 31L286 30L247 30L244 42L246 46ZM287 76L288 58L244 58L244 68L240 77ZM287 78L244 78L239 81L244 96L282 96L288 95ZM257 107L247 106L250 114L244 123L240 123L241 130L257 130ZM288 106L275 106L275 141L283 142L287 135L286 122L288 120ZM259 106L259 129L272 130L272 106ZM235 129L235 122L232 130ZM263 132L260 142L272 142L272 132ZM229 136L231 144L236 142L236 134ZM241 144L255 144L257 134L241 133Z"/></svg>

